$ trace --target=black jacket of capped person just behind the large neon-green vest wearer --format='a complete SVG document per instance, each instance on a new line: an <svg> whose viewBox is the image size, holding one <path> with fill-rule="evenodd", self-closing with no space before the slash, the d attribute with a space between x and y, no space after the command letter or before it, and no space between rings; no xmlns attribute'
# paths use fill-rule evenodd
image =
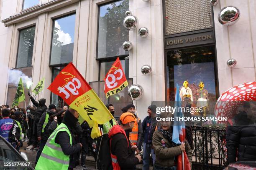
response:
<svg viewBox="0 0 256 170"><path fill-rule="evenodd" d="M51 116L51 113L49 113L49 117ZM41 116L39 122L38 122L38 125L37 125L37 137L41 136L41 140L47 140L50 136L50 133L49 133L49 126L51 125L51 120L49 119L48 120L48 123L47 125L45 126L45 129L44 129L44 133L42 133L42 128L43 128L43 125L44 125L44 120L45 120L45 117L46 117L46 112L43 113L43 115Z"/></svg>

